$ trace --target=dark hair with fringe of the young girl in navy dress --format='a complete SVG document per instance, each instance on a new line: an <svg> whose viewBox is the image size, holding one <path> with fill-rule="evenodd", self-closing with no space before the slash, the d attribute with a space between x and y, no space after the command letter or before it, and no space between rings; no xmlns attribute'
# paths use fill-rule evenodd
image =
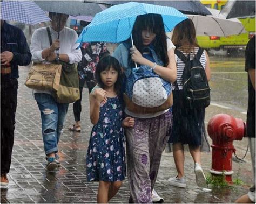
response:
<svg viewBox="0 0 256 204"><path fill-rule="evenodd" d="M97 67L96 67L95 77L98 82L98 85L104 89L105 85L102 82L102 79L100 78L100 72L109 70L111 67L114 70L116 70L118 73L117 81L114 84L114 89L116 90L117 95L120 96L121 86L122 86L122 71L121 71L121 66L116 58L114 58L112 56L106 56L106 57L103 57L102 59L100 59L97 64Z"/></svg>

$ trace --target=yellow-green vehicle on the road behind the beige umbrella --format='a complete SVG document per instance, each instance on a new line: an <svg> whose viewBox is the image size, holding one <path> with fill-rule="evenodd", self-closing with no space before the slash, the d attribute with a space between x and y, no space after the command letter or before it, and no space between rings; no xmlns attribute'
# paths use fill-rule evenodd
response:
<svg viewBox="0 0 256 204"><path fill-rule="evenodd" d="M211 9L221 10L227 1L202 1L206 7ZM244 50L248 40L252 38L255 34L255 17L252 18L238 18L242 25L244 25L245 30L248 33L242 33L238 35L232 35L227 37L218 36L197 36L198 44L200 47L205 49L224 49L228 52L234 50Z"/></svg>

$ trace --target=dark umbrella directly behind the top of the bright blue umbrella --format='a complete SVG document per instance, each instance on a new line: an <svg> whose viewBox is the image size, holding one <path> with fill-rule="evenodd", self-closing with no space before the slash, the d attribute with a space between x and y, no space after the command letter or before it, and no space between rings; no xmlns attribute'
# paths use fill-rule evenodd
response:
<svg viewBox="0 0 256 204"><path fill-rule="evenodd" d="M100 3L107 5L123 4L130 1L99 1L99 0L84 0L84 2ZM200 1L134 1L139 3L155 4L161 6L170 6L182 13L193 15L212 15Z"/></svg>

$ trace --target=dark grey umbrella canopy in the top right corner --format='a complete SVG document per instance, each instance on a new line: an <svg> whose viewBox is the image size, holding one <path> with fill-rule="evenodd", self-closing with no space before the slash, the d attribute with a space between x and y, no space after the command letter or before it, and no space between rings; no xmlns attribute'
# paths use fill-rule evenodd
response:
<svg viewBox="0 0 256 204"><path fill-rule="evenodd" d="M255 16L255 2L228 1L220 13L226 18L253 17Z"/></svg>

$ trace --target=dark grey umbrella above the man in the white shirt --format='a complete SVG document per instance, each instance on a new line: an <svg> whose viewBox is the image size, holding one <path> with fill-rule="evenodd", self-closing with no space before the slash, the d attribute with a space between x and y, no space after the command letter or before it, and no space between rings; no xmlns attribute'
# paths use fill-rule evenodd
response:
<svg viewBox="0 0 256 204"><path fill-rule="evenodd" d="M71 16L95 16L106 9L102 4L84 3L84 1L35 1L44 11L63 13Z"/></svg>

